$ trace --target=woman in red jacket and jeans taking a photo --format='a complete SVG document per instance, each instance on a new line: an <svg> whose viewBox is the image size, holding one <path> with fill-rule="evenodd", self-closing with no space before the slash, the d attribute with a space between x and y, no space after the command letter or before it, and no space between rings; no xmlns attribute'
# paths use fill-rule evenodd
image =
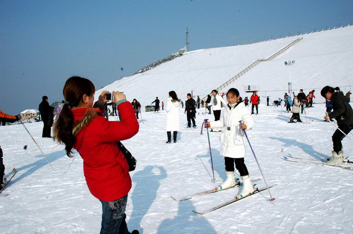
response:
<svg viewBox="0 0 353 234"><path fill-rule="evenodd" d="M132 138L139 124L125 94L112 92L121 121L109 121L104 118L108 91L103 91L95 104L94 93L95 86L88 79L73 76L66 81L65 103L54 126L54 140L65 144L69 157L73 157L74 148L83 159L88 189L102 204L101 234L129 234L125 209L131 178L116 141Z"/></svg>

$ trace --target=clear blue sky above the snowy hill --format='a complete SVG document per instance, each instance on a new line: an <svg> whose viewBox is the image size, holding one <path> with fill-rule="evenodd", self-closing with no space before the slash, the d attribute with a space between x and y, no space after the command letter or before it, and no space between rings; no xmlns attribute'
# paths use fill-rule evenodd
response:
<svg viewBox="0 0 353 234"><path fill-rule="evenodd" d="M0 110L61 101L73 75L96 89L132 75L184 47L186 26L195 50L348 25L352 12L352 0L1 0Z"/></svg>

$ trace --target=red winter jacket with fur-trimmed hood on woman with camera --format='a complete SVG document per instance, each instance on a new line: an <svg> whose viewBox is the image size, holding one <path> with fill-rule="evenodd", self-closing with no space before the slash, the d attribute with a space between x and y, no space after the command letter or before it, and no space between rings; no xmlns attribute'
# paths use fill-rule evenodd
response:
<svg viewBox="0 0 353 234"><path fill-rule="evenodd" d="M104 113L104 108L72 110L75 123L82 123L74 148L83 159L87 186L93 196L105 202L126 196L131 188L128 164L115 141L133 137L139 124L129 102L119 104L118 110L121 122L98 116Z"/></svg>

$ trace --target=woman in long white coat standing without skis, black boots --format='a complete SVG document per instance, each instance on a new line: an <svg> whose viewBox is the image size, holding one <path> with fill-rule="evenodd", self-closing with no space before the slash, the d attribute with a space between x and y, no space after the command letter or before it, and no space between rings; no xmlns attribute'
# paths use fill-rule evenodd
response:
<svg viewBox="0 0 353 234"><path fill-rule="evenodd" d="M176 92L169 92L169 98L167 102L167 117L164 123L165 130L167 131L168 140L166 143L172 142L172 132L173 140L176 143L177 131L180 131L179 125L179 110L180 110L181 100L177 98Z"/></svg>

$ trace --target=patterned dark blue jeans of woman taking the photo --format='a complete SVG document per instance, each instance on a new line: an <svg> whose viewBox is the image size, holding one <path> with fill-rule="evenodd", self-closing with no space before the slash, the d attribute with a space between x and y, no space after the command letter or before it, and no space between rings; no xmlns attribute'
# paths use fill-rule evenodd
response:
<svg viewBox="0 0 353 234"><path fill-rule="evenodd" d="M126 225L126 203L127 195L118 200L103 202L101 234L130 234Z"/></svg>

